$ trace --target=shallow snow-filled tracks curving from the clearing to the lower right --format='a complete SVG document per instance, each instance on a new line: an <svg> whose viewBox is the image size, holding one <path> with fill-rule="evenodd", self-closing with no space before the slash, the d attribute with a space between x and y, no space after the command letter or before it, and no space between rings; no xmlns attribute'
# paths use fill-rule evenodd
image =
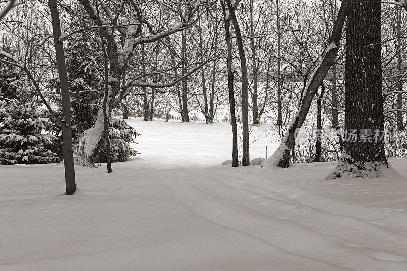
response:
<svg viewBox="0 0 407 271"><path fill-rule="evenodd" d="M201 217L263 240L310 269L407 269L406 236L210 170L166 176L177 198Z"/></svg>

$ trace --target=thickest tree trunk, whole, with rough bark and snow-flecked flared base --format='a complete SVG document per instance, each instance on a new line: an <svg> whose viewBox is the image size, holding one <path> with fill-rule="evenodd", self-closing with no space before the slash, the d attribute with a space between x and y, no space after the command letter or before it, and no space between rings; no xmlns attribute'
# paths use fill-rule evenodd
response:
<svg viewBox="0 0 407 271"><path fill-rule="evenodd" d="M379 177L381 169L387 166L384 138L381 137L384 133L381 3L350 2L348 12L345 151L329 177Z"/></svg>

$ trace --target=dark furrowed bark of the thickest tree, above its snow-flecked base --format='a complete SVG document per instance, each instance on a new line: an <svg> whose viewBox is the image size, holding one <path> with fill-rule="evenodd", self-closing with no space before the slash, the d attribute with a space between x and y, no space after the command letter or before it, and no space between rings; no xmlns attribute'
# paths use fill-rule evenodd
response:
<svg viewBox="0 0 407 271"><path fill-rule="evenodd" d="M359 2L349 4L347 19L345 129L383 131L381 4L369 0ZM387 163L383 141L347 140L344 146L355 161Z"/></svg>

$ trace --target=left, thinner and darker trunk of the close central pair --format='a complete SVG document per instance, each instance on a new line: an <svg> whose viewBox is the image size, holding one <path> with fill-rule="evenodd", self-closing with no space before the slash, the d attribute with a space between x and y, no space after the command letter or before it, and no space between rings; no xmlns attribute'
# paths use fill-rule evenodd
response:
<svg viewBox="0 0 407 271"><path fill-rule="evenodd" d="M234 93L234 81L232 70L232 51L230 40L230 16L226 15L226 8L223 0L220 0L222 6L223 17L225 20L225 32L226 32L226 46L227 46L227 88L229 91L229 104L230 104L230 123L232 127L232 167L239 166L239 150L238 150L238 125L236 123L235 112L235 93Z"/></svg>

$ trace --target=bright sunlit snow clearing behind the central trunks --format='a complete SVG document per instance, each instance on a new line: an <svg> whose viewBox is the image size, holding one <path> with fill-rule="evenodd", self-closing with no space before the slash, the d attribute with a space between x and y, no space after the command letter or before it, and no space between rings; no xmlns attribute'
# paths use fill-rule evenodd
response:
<svg viewBox="0 0 407 271"><path fill-rule="evenodd" d="M182 123L164 122L162 119L144 122L129 119L137 132L134 149L142 153L139 158L155 160L167 165L220 165L231 159L231 126L224 122L205 124L204 122ZM274 131L269 125L251 127L250 157L270 156L279 145ZM267 141L266 141L267 135ZM272 142L273 141L273 142Z"/></svg>

